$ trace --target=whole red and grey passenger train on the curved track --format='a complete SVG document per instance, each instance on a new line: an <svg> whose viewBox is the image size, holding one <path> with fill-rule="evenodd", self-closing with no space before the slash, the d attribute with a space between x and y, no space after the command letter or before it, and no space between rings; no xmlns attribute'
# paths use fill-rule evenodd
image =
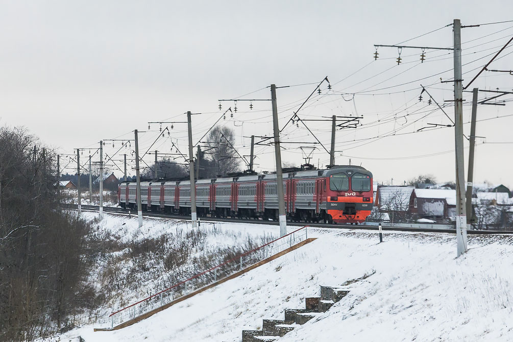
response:
<svg viewBox="0 0 513 342"><path fill-rule="evenodd" d="M283 173L287 219L306 222L365 221L372 209L372 173L360 166ZM123 208L136 208L136 183L118 191ZM143 210L187 215L191 212L189 180L141 182ZM275 173L240 175L196 181L199 216L278 219Z"/></svg>

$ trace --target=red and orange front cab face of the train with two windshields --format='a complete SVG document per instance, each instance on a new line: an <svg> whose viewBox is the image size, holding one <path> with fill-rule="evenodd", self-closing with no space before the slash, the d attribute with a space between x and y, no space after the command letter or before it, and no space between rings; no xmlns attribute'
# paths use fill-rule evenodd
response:
<svg viewBox="0 0 513 342"><path fill-rule="evenodd" d="M335 167L326 172L326 220L358 224L372 210L372 173L360 166Z"/></svg>

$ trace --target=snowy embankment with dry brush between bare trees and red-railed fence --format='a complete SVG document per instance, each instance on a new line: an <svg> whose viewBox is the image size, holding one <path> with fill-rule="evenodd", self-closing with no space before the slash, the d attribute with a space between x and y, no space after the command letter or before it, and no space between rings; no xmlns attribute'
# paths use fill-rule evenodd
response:
<svg viewBox="0 0 513 342"><path fill-rule="evenodd" d="M279 227L270 225L201 222L198 230L192 228L190 220L144 217L140 228L136 215L104 213L104 219L97 220L98 213L83 212L82 217L93 223L92 234L110 246L98 255L88 280L97 292L105 295L107 302L91 312L75 316L75 325L105 319L113 311L203 271L203 266L194 264L196 258L211 259L210 262L215 264L210 268L218 264L212 256L219 254L219 249L238 250L247 247L248 240L256 247L279 236ZM197 238L194 234L187 237L187 233L198 231L201 237L196 243L187 244L190 250L185 249L188 257L180 258L179 267L168 269L165 261L169 253L184 251L181 242ZM166 247L159 247L162 244Z"/></svg>

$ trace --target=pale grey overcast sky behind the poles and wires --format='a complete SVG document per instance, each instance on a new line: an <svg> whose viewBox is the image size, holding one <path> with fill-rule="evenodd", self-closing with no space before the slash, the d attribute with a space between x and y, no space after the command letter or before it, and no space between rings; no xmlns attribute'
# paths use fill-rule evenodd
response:
<svg viewBox="0 0 513 342"><path fill-rule="evenodd" d="M454 116L446 101L453 98L452 85L440 83L440 78L452 78L451 53L426 50L426 62L420 63L422 51L403 49L398 66L394 48L380 48L380 58L372 62L373 45L407 41L405 45L450 47L452 28L444 26L454 18L475 25L511 20L511 13L513 2L506 1L1 1L0 124L23 125L62 153L86 148L85 160L101 139L133 139L134 129L148 131L148 122L184 121L188 110L203 113L193 116L196 143L228 107L234 109L227 102L220 111L218 99L266 99L270 84L298 85L278 89L283 127L328 76L331 90L323 83L321 94L315 93L298 115L363 116L358 129L337 132L337 164L348 164L350 158L384 183L393 178L394 184L402 184L425 173L451 181L454 129L415 133L428 124L450 124L434 103L428 104L425 93L419 102L421 84ZM463 84L512 36L513 23L462 29ZM513 46L506 48L489 69L513 69L512 52ZM513 76L485 71L473 87L511 91ZM471 94L464 98L468 122ZM249 103L238 102L233 118L228 114L220 121L235 130L235 147L244 155L249 154L251 134L272 134L270 103L252 105L250 110ZM486 138L477 139L476 182L513 186L513 144L490 144L513 142L513 116L506 116L512 106L478 108L478 119L488 120L477 126L477 135ZM329 150L330 122L306 123ZM151 150L170 153L172 141L187 154L186 125L173 127ZM154 124L140 134L141 154L159 129ZM469 130L466 124L467 135ZM282 140L316 142L302 124L289 124ZM106 144L106 153L113 155L120 145ZM299 146L317 148L312 164L329 163L319 144L283 146L284 163L304 163ZM273 147L255 150L257 170L274 170ZM122 149L113 159L124 153L130 158L130 149Z"/></svg>

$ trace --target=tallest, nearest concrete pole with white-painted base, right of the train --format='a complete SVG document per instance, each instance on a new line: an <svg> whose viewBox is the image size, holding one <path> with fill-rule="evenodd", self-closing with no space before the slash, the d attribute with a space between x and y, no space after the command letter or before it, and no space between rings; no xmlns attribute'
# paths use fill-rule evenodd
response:
<svg viewBox="0 0 513 342"><path fill-rule="evenodd" d="M463 157L463 85L461 73L461 22L454 19L454 108L456 145L456 240L457 256L467 251L465 165Z"/></svg>

